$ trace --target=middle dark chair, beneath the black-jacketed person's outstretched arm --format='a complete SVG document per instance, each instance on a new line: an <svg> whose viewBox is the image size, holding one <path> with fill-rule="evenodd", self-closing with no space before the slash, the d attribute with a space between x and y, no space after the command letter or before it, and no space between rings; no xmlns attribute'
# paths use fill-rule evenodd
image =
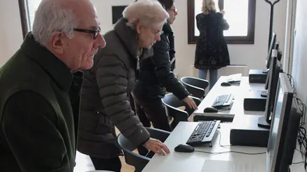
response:
<svg viewBox="0 0 307 172"><path fill-rule="evenodd" d="M200 104L200 99L197 97L192 98L195 101L195 104L198 106ZM165 105L167 116L174 118L170 124L172 130L174 130L180 121L188 121L188 117L195 111L194 109L190 109L184 100L179 100L172 93L165 95L165 97L162 99L162 102ZM185 107L185 109L181 110L178 107Z"/></svg>

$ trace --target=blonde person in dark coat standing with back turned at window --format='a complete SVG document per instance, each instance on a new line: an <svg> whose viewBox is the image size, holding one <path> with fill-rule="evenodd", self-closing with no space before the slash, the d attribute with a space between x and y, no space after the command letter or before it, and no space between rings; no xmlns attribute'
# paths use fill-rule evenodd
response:
<svg viewBox="0 0 307 172"><path fill-rule="evenodd" d="M209 70L209 88L218 80L218 69L230 65L230 56L223 31L229 24L223 18L224 11L216 13L214 0L202 1L202 13L196 15L200 37L195 51L195 68L200 79L207 79Z"/></svg>

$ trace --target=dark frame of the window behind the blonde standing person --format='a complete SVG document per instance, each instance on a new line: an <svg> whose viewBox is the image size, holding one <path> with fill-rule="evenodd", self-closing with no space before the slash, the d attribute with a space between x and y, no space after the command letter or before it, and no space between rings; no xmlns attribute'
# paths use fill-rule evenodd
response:
<svg viewBox="0 0 307 172"><path fill-rule="evenodd" d="M196 44L195 36L195 0L188 0L188 44ZM248 33L247 36L225 36L227 44L254 44L255 43L255 15L256 1L248 0Z"/></svg>

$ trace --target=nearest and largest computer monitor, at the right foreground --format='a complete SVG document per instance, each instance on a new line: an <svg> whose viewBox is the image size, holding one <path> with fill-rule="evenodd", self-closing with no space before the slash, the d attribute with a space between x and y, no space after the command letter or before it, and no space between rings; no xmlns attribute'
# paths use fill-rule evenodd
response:
<svg viewBox="0 0 307 172"><path fill-rule="evenodd" d="M280 73L267 147L267 172L289 172L301 115L287 74Z"/></svg>

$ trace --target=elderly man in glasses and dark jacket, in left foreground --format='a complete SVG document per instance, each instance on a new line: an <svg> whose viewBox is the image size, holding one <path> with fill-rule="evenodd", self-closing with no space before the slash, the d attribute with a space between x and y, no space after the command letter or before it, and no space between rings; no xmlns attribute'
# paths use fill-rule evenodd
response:
<svg viewBox="0 0 307 172"><path fill-rule="evenodd" d="M41 1L33 31L0 69L1 172L73 172L73 73L91 68L93 54L105 46L99 31L89 0Z"/></svg>

